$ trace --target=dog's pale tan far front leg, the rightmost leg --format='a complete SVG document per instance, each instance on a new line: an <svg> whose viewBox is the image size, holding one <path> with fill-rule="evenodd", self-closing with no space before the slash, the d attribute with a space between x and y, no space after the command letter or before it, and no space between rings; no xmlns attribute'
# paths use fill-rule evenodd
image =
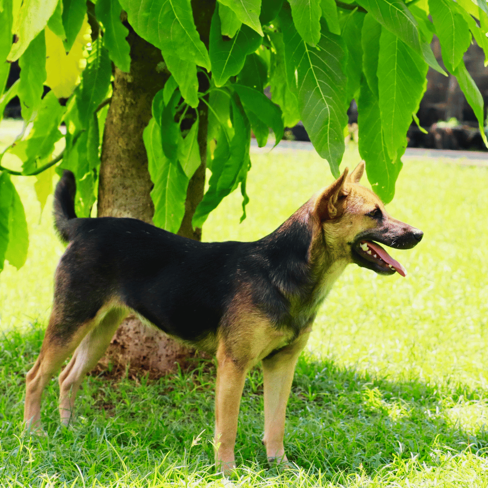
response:
<svg viewBox="0 0 488 488"><path fill-rule="evenodd" d="M303 333L294 343L263 359L263 444L270 463L285 464L287 461L283 445L286 404L290 396L295 366L309 334L309 331Z"/></svg>

